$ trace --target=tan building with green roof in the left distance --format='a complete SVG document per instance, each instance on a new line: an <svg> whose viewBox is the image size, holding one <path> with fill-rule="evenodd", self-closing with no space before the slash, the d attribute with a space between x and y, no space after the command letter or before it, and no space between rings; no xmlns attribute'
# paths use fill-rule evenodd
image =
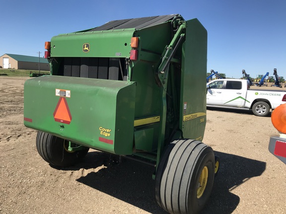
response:
<svg viewBox="0 0 286 214"><path fill-rule="evenodd" d="M24 69L24 70L50 70L47 59L37 56L27 56L18 54L4 54L0 56L0 66L2 68Z"/></svg>

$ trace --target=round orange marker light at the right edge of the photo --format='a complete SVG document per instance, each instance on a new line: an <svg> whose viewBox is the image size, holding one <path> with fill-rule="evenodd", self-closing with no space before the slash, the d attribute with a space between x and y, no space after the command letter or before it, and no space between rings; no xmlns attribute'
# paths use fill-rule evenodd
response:
<svg viewBox="0 0 286 214"><path fill-rule="evenodd" d="M271 122L278 131L286 134L286 104L282 104L273 110Z"/></svg>

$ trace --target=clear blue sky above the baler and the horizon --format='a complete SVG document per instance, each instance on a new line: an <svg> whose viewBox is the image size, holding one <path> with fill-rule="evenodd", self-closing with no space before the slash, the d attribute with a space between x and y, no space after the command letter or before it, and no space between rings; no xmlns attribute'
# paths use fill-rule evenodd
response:
<svg viewBox="0 0 286 214"><path fill-rule="evenodd" d="M240 78L286 77L286 0L6 0L1 3L0 56L44 55L53 36L111 20L181 14L208 31L208 72Z"/></svg>

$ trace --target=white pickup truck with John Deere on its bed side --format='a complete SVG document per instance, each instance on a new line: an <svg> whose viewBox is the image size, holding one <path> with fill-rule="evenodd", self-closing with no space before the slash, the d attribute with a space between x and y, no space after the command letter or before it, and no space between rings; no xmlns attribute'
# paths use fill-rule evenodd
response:
<svg viewBox="0 0 286 214"><path fill-rule="evenodd" d="M216 79L207 84L207 107L252 109L267 116L270 109L286 103L286 91L253 90L248 80Z"/></svg>

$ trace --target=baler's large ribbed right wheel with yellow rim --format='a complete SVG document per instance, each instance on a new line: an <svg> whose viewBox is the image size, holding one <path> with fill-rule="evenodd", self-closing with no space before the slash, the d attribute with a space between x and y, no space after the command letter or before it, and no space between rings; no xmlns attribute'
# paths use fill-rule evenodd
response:
<svg viewBox="0 0 286 214"><path fill-rule="evenodd" d="M213 183L213 149L196 140L173 141L157 167L156 200L168 213L196 214L206 205Z"/></svg>

